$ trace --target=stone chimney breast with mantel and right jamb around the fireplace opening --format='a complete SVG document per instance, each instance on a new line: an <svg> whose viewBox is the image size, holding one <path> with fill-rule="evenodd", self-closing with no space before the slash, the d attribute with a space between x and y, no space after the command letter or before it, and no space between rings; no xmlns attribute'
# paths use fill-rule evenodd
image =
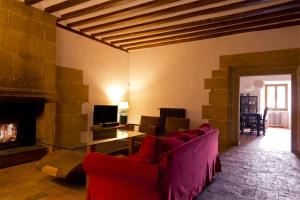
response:
<svg viewBox="0 0 300 200"><path fill-rule="evenodd" d="M45 102L37 142L55 138L56 18L17 0L0 0L0 97Z"/></svg>

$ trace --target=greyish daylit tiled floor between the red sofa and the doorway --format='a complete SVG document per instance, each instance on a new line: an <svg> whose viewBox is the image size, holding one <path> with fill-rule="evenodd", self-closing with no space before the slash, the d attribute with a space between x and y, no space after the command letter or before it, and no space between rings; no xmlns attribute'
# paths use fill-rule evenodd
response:
<svg viewBox="0 0 300 200"><path fill-rule="evenodd" d="M221 163L197 200L300 199L300 160L290 152L235 147Z"/></svg>

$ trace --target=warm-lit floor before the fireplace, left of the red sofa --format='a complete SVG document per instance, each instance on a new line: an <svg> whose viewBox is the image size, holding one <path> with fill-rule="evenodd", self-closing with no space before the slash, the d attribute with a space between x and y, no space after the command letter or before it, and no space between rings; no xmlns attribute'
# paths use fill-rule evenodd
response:
<svg viewBox="0 0 300 200"><path fill-rule="evenodd" d="M84 200L85 185L43 175L32 162L0 169L0 199Z"/></svg>

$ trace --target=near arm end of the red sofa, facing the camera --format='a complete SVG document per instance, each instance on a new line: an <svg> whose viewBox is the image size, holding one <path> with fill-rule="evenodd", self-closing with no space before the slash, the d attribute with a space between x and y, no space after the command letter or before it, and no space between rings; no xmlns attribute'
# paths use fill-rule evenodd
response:
<svg viewBox="0 0 300 200"><path fill-rule="evenodd" d="M158 199L158 165L89 153L83 167L88 174L87 199Z"/></svg>

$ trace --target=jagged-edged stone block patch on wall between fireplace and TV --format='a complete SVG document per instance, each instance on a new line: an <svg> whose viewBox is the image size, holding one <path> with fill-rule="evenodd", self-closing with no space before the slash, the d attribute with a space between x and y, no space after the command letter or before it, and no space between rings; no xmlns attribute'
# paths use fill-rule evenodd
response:
<svg viewBox="0 0 300 200"><path fill-rule="evenodd" d="M87 130L87 114L81 114L82 103L88 102L89 87L83 85L82 70L56 68L56 137L55 145L81 147L80 133Z"/></svg>

